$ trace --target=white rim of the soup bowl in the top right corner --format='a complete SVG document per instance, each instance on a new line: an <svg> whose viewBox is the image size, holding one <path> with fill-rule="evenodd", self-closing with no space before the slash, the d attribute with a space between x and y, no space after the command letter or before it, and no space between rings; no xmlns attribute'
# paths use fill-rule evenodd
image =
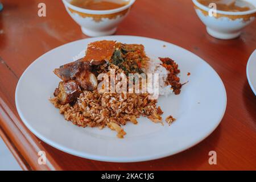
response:
<svg viewBox="0 0 256 182"><path fill-rule="evenodd" d="M244 0L246 1L246 0ZM201 3L199 3L197 0L192 0L192 2L194 3L194 5L196 5L197 7L199 7L200 9L203 9L205 11L209 11L210 8L207 6L202 5ZM246 1L247 2L247 1ZM254 5L255 6L255 5ZM221 11L221 10L217 10L217 14L224 14L224 15L248 15L248 14L254 14L256 13L256 7L253 10L249 10L249 11L240 11L240 12L232 12L232 11Z"/></svg>

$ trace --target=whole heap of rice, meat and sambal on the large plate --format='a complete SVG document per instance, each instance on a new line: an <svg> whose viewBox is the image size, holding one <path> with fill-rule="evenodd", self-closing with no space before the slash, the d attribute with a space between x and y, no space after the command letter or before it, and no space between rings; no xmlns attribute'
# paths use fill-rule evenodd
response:
<svg viewBox="0 0 256 182"><path fill-rule="evenodd" d="M114 70L114 72L113 72ZM168 96L174 92L180 94L182 85L177 76L180 73L174 60L166 58L150 58L141 44L123 44L109 40L90 43L85 55L77 61L65 64L53 71L62 81L50 99L59 108L67 121L81 127L109 127L117 132L118 138L126 135L122 129L127 122L137 124L137 118L143 116L155 123L162 123L163 111L157 106L157 99L152 99L152 93L146 92L117 92L117 85L130 86L125 76L159 75L159 94ZM97 79L101 75L103 81L110 83L110 88ZM112 80L123 76L121 79ZM132 83L138 83L143 88L142 77L133 77ZM102 82L101 82L102 81ZM112 92L115 85L115 92ZM156 84L156 82L152 82ZM133 88L133 87L132 87ZM105 90L105 92L101 92ZM172 116L166 118L170 125L175 121Z"/></svg>

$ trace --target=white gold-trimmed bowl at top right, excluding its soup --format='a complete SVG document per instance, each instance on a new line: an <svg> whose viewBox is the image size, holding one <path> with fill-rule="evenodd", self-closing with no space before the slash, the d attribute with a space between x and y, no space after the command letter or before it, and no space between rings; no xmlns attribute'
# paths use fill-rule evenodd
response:
<svg viewBox="0 0 256 182"><path fill-rule="evenodd" d="M208 34L218 39L234 39L240 36L242 28L253 22L256 9L243 12L216 11L216 16L209 16L210 8L192 0L197 15L207 26ZM255 0L245 0L256 7Z"/></svg>

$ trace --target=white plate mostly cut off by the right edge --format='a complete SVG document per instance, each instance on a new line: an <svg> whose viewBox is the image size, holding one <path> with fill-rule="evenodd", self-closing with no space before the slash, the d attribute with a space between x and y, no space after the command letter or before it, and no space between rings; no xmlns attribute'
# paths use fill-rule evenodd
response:
<svg viewBox="0 0 256 182"><path fill-rule="evenodd" d="M251 89L256 96L256 50L251 54L248 60L246 75L249 85L251 86Z"/></svg>

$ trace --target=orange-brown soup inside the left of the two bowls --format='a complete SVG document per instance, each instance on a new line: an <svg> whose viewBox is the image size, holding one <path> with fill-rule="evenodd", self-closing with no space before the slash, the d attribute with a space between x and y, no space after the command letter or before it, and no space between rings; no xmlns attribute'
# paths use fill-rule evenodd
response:
<svg viewBox="0 0 256 182"><path fill-rule="evenodd" d="M120 0L72 0L70 3L88 10L113 10L127 5L128 2Z"/></svg>

